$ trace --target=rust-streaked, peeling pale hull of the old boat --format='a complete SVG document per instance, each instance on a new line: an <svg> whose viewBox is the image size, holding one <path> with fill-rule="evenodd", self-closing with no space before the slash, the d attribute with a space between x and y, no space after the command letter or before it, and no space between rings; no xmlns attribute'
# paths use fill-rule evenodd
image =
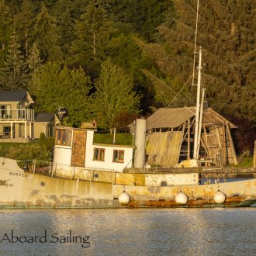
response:
<svg viewBox="0 0 256 256"><path fill-rule="evenodd" d="M74 176L42 175L26 172L19 168L15 160L0 157L0 208L200 208L240 207L256 203L256 178L209 185L161 187L123 182L133 177L130 174L97 173L89 180ZM102 175L102 179L99 179L99 175ZM122 179L119 178L121 176ZM124 189L130 195L130 202L126 206L118 200ZM213 199L218 191L226 195L225 202L220 204ZM175 202L178 192L188 196L185 205Z"/></svg>

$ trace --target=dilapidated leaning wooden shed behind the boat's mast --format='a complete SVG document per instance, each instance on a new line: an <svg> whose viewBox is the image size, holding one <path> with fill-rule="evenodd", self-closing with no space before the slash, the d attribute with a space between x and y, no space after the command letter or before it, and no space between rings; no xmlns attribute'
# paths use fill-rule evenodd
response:
<svg viewBox="0 0 256 256"><path fill-rule="evenodd" d="M213 109L202 118L199 159L205 165L237 164L230 129L233 123ZM147 163L176 167L193 156L195 107L158 109L147 118Z"/></svg>

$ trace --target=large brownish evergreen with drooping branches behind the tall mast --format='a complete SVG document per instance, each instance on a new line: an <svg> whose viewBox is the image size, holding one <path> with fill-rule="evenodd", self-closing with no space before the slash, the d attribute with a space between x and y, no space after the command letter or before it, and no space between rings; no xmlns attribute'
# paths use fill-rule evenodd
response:
<svg viewBox="0 0 256 256"><path fill-rule="evenodd" d="M168 12L165 22L158 27L157 43L137 41L154 59L161 71L161 80L167 84L174 81L170 87L177 92L175 85L181 88L193 70L197 1L173 2L175 12ZM222 113L232 111L238 116L249 115L251 119L254 119L254 93L248 96L244 91L255 92L253 9L253 0L200 1L197 37L197 46L202 46L203 84L211 106ZM188 89L192 92L194 87ZM174 106L182 99L180 94ZM244 103L240 104L241 101Z"/></svg>

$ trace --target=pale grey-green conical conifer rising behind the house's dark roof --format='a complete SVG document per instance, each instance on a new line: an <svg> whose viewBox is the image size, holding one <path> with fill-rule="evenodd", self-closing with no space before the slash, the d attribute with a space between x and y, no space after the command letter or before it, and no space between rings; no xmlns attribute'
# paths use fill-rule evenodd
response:
<svg viewBox="0 0 256 256"><path fill-rule="evenodd" d="M27 65L20 51L19 39L14 30L8 50L5 66L1 69L0 79L5 87L12 90L26 88Z"/></svg>

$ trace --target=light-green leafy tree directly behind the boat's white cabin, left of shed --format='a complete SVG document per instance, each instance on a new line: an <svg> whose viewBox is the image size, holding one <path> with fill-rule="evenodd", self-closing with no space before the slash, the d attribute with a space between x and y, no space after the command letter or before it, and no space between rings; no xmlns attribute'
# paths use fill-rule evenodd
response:
<svg viewBox="0 0 256 256"><path fill-rule="evenodd" d="M133 92L133 82L123 68L110 59L102 63L102 71L95 81L95 112L102 128L116 126L116 121L126 113L138 113L140 96Z"/></svg>

